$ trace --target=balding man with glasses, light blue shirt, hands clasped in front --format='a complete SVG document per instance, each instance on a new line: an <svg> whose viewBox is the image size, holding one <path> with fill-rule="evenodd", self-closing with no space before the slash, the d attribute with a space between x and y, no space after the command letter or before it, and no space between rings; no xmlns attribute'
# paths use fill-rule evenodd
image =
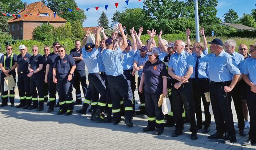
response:
<svg viewBox="0 0 256 150"><path fill-rule="evenodd" d="M185 43L177 40L174 43L174 49L177 53L172 54L168 65L168 74L173 78L172 84L172 105L173 118L175 121L175 131L172 137L182 134L182 103L184 104L186 116L190 122L190 131L192 132L190 139L197 139L196 119L192 92L192 80L190 76L193 74L195 67L194 58L185 50Z"/></svg>

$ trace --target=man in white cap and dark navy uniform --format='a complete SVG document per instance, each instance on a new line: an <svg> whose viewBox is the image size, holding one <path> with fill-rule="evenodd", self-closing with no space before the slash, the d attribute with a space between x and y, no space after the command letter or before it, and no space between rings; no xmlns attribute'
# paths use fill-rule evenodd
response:
<svg viewBox="0 0 256 150"><path fill-rule="evenodd" d="M29 90L29 73L28 64L31 54L28 54L25 50L25 45L20 45L20 54L17 56L17 73L18 73L18 90L20 96L20 104L16 108L28 109L31 106L30 90Z"/></svg>

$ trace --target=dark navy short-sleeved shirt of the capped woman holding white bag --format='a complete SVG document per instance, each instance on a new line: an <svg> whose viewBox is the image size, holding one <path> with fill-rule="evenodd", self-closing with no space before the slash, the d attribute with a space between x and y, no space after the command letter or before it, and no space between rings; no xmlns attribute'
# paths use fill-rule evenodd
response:
<svg viewBox="0 0 256 150"><path fill-rule="evenodd" d="M164 62L158 59L154 64L151 64L150 61L147 61L143 73L145 74L145 91L148 93L162 93L163 76L167 76Z"/></svg>

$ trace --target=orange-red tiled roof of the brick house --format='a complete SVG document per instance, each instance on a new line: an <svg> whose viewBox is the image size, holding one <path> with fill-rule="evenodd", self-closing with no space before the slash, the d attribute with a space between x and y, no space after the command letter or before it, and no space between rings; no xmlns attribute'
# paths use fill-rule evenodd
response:
<svg viewBox="0 0 256 150"><path fill-rule="evenodd" d="M37 16L40 13L48 13L48 16ZM7 22L17 22L17 21L51 21L51 22L68 22L66 19L61 18L56 14L54 18L53 11L45 6L42 2L31 3L27 6L26 10L22 10L18 13L20 18L11 18ZM32 15L30 15L32 14ZM27 15L25 17L24 15ZM49 17L50 16L50 17Z"/></svg>

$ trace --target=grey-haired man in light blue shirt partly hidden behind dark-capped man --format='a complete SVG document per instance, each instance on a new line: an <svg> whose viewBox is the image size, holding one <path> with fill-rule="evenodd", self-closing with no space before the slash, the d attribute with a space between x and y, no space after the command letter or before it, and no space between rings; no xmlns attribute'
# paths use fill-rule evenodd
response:
<svg viewBox="0 0 256 150"><path fill-rule="evenodd" d="M233 39L228 39L225 41L224 47L225 47L226 53L230 54L233 57L233 59L235 60L234 62L236 66L241 70L243 67L242 61L244 61L244 56L235 51L236 41ZM230 92L229 98L231 97L233 98L235 109L236 109L237 120L238 120L239 132L240 132L240 135L244 137L246 134L244 132L244 115L242 110L242 99L241 99L241 95L242 94L244 95L244 93L241 93L241 86L239 84L242 78L243 78L243 75L240 75L238 82L236 83L236 86ZM229 101L231 102L231 99Z"/></svg>

